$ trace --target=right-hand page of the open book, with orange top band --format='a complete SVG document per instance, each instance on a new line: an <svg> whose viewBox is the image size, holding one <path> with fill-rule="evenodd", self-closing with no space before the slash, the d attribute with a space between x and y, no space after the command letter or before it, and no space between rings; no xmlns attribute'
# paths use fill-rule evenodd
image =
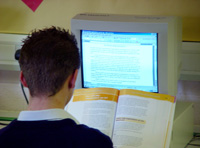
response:
<svg viewBox="0 0 200 148"><path fill-rule="evenodd" d="M175 98L123 89L113 130L115 148L166 148Z"/></svg>

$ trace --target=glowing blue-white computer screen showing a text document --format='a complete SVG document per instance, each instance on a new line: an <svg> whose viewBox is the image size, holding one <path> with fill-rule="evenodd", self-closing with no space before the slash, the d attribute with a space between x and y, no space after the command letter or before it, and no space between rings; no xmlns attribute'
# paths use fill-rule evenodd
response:
<svg viewBox="0 0 200 148"><path fill-rule="evenodd" d="M82 87L158 92L157 33L81 30Z"/></svg>

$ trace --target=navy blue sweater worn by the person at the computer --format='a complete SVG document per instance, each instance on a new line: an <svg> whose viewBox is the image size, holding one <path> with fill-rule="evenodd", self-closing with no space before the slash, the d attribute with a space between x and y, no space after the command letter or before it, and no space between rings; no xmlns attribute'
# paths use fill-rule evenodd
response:
<svg viewBox="0 0 200 148"><path fill-rule="evenodd" d="M12 121L0 130L1 148L112 148L110 138L71 119Z"/></svg>

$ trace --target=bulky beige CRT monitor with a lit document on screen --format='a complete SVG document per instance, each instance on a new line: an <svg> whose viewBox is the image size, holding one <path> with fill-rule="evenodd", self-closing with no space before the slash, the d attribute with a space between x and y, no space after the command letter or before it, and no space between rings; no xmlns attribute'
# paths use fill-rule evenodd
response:
<svg viewBox="0 0 200 148"><path fill-rule="evenodd" d="M80 53L82 54L82 66L79 70L76 88L83 88L85 86L90 87L90 85L87 84L91 84L92 87L95 87L96 84L96 87L107 87L108 85L101 83L109 83L110 80L108 80L108 77L110 75L111 79L115 78L115 80L117 80L117 83L119 83L119 80L122 77L127 78L130 76L133 79L135 78L135 80L130 80L131 83L128 83L129 80L127 79L121 80L122 83L123 81L127 82L123 83L123 86L127 84L127 88L141 89L147 91L149 89L149 91L153 92L176 95L177 81L179 78L181 63L180 50L182 26L181 19L179 17L83 13L78 14L72 18L71 32L75 35L78 42L78 47L80 49ZM90 35L87 36L88 34ZM110 35L113 34L117 34L118 36L112 36L111 39L109 39ZM133 36L130 37L129 34ZM147 37L143 35L147 35ZM150 37L149 35L154 35L154 37ZM136 39L137 36L139 36L139 39ZM148 41L151 39L152 43L150 43L151 41ZM111 42L108 43L108 41ZM97 47L95 47L95 45L97 45ZM113 47L105 51L108 46ZM121 48L119 48L120 46ZM90 49L87 49L87 47L89 47ZM127 60L129 58L121 56L122 54L124 55L124 53L122 53L121 55L120 53L123 52L122 49L126 48L129 49L130 54L134 54L130 51L131 47L133 47L134 50L137 50L138 55L141 54L141 56L137 58L135 57L135 55L133 55L134 60L131 60L127 64ZM104 51L101 51L102 48ZM118 61L114 59L114 56L112 56L112 53L115 54L114 51L116 49L121 49L120 52L116 54L118 59L121 61L126 61L126 63L118 63L118 67L113 68L112 65L115 64L112 63L111 66L108 66L108 63L112 61ZM146 51L148 52L144 52L143 49L147 49ZM86 50L87 52L84 53L83 50ZM94 50L95 55L92 55L94 53ZM107 58L105 58L105 56L102 55L102 53L104 53L104 55L106 55ZM154 55L152 56L151 54ZM110 59L108 55L110 55ZM148 57L149 55L152 57ZM129 57L129 53L127 53L126 56ZM94 61L96 59L100 59L100 57L102 57L103 59L99 61ZM121 57L123 57L123 60L120 59ZM147 59L149 59L149 62L147 62ZM145 61L149 67L145 66ZM122 73L124 70L129 69L129 72L131 72L127 73L126 75L123 74L120 76L116 76L115 74L117 73L110 74L109 72L103 75L103 67L100 67L103 64L100 63L107 63L104 65L104 68L108 67L108 69L118 69L119 72ZM139 63L140 65L137 65L137 63ZM119 65L122 65L122 67L120 67ZM127 67L127 65L130 65L129 68L125 68ZM140 71L140 69L142 69L142 66L147 68L149 71L145 72L144 70L138 72ZM135 67L138 67L138 69L136 69ZM92 74L89 71L91 71ZM146 74L146 76L143 76L144 73ZM103 79L100 80L102 75ZM90 76L91 78L88 78ZM144 80L138 81L138 79L141 77L144 77ZM145 78L147 77L149 77L148 80L145 80ZM84 82L85 79L87 79L87 83ZM114 80L112 79L111 81L113 82ZM145 81L149 81L149 83L145 84ZM134 82L136 84L134 84ZM84 85L84 83L86 84ZM140 86L140 84L142 86ZM118 84L116 85L118 86Z"/></svg>

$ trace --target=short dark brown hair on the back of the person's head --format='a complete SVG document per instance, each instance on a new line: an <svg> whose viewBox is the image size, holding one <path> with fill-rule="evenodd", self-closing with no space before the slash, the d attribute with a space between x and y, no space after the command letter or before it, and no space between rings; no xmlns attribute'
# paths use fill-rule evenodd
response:
<svg viewBox="0 0 200 148"><path fill-rule="evenodd" d="M80 66L75 37L53 26L34 30L23 42L19 63L30 95L55 95Z"/></svg>

